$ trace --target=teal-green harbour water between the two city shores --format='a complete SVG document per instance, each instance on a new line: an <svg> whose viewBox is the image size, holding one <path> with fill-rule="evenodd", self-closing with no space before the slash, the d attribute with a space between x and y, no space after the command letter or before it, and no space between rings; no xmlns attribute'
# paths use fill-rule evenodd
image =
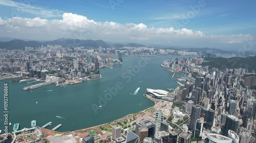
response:
<svg viewBox="0 0 256 143"><path fill-rule="evenodd" d="M113 69L100 69L101 79L84 81L67 85L67 87L56 87L55 84L51 84L23 91L24 87L35 83L9 83L11 79L1 80L1 89L4 89L4 83L9 85L8 121L13 125L19 123L19 129L30 127L32 120L36 120L37 126L52 122L52 126L48 126L48 129L61 124L62 126L56 131L65 132L112 122L130 113L151 107L154 103L143 97L146 88L167 91L167 88L175 89L178 86L176 80L172 79L173 73L160 66L164 60L173 59L174 56L148 57L150 61L143 67L143 62L138 64L141 58L140 56L124 56L123 64L119 64ZM180 58L180 56L175 56L175 58ZM140 66L139 70L136 69L138 66ZM133 72L131 78L128 78L127 70L133 70L133 68L138 72ZM117 82L122 83L123 88L118 90L116 96L113 96L110 101L106 101L106 105L95 113L92 104L99 106L99 97L110 93L108 88L116 87ZM136 95L130 95L139 87L140 90ZM2 98L4 98L4 93L2 93ZM4 101L1 100L1 114L3 114L3 109ZM0 116L0 119L3 118L3 115ZM0 122L0 129L3 130L4 122ZM11 132L12 126L9 126L8 129Z"/></svg>

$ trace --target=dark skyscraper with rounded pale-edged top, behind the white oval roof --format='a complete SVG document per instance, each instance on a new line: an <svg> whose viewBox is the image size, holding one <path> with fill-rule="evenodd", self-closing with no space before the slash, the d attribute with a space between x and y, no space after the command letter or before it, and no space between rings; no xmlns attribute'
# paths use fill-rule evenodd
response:
<svg viewBox="0 0 256 143"><path fill-rule="evenodd" d="M226 123L223 128L223 135L227 136L228 130L233 130L234 132L237 133L238 127L239 127L239 120L232 115L227 116Z"/></svg>

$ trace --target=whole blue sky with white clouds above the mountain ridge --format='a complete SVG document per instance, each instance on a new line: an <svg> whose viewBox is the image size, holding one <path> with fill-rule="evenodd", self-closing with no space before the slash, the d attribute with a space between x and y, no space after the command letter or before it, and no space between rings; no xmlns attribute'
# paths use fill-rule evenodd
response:
<svg viewBox="0 0 256 143"><path fill-rule="evenodd" d="M101 39L233 51L256 46L255 1L22 2L0 1L0 37Z"/></svg>

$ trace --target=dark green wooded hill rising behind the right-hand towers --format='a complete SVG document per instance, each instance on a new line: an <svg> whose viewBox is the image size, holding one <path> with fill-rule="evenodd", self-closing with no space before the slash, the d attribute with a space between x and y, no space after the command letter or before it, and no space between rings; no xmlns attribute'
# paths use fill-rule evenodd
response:
<svg viewBox="0 0 256 143"><path fill-rule="evenodd" d="M218 69L238 69L245 68L245 65L248 65L248 71L256 71L256 56L249 56L247 58L241 57L232 57L232 58L204 58L202 66L210 66Z"/></svg>

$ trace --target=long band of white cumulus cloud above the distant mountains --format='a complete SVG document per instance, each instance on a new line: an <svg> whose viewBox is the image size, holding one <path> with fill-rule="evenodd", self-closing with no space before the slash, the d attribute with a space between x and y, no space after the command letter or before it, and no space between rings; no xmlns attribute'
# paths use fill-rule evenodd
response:
<svg viewBox="0 0 256 143"><path fill-rule="evenodd" d="M62 19L47 20L39 17L13 17L6 20L0 18L0 36L38 40L54 40L57 38L102 39L113 42L155 43L184 47L234 47L252 35L206 35L201 31L174 27L148 27L144 23L121 24L113 21L94 21L86 16L63 13ZM83 35L77 37L77 35ZM26 37L24 37L26 36ZM214 44L213 44L214 43ZM237 48L241 45L237 45Z"/></svg>

